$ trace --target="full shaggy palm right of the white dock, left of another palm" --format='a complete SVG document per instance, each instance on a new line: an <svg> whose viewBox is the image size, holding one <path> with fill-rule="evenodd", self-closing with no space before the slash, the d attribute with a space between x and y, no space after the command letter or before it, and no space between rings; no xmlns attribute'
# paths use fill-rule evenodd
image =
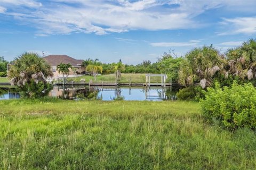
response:
<svg viewBox="0 0 256 170"><path fill-rule="evenodd" d="M202 88L211 86L213 77L222 71L226 60L212 46L194 48L185 56L179 70L181 84L193 84L199 81Z"/></svg>

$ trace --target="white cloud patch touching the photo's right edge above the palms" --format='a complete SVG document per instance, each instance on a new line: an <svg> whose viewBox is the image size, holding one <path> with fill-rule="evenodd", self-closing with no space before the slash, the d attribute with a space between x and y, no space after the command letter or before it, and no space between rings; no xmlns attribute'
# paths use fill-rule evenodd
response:
<svg viewBox="0 0 256 170"><path fill-rule="evenodd" d="M228 29L228 31L218 33L219 36L236 35L244 33L252 35L256 33L256 16L255 17L241 17L234 19L223 19L221 24Z"/></svg>

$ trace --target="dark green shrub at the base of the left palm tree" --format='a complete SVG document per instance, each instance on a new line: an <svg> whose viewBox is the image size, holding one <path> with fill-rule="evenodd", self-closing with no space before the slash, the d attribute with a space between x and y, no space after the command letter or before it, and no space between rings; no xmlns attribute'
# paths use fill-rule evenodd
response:
<svg viewBox="0 0 256 170"><path fill-rule="evenodd" d="M45 97L52 90L52 84L44 83L42 81L36 83L34 80L26 83L25 86L18 87L22 98L41 98Z"/></svg>

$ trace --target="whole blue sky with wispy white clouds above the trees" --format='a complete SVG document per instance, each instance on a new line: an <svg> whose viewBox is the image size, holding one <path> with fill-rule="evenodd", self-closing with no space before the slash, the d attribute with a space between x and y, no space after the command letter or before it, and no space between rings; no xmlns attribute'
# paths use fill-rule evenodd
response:
<svg viewBox="0 0 256 170"><path fill-rule="evenodd" d="M256 0L0 0L0 56L23 52L138 64L256 38Z"/></svg>

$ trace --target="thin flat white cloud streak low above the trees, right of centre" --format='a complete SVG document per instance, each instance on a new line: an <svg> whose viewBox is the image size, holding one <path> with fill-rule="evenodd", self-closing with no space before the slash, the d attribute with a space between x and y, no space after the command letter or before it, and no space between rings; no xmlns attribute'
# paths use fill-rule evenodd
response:
<svg viewBox="0 0 256 170"><path fill-rule="evenodd" d="M177 43L177 42L171 42L171 43L150 43L151 46L153 47L188 47L188 46L197 46L199 40L190 40L188 42L182 42L182 43Z"/></svg>

